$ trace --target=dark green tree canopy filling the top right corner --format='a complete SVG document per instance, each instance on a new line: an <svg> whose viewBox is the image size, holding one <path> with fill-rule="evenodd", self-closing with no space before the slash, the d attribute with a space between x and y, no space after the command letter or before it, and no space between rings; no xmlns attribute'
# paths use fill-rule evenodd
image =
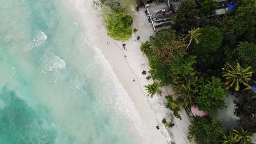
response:
<svg viewBox="0 0 256 144"><path fill-rule="evenodd" d="M224 43L234 49L238 41L256 43L256 2L254 0L237 1L236 8L222 21Z"/></svg>

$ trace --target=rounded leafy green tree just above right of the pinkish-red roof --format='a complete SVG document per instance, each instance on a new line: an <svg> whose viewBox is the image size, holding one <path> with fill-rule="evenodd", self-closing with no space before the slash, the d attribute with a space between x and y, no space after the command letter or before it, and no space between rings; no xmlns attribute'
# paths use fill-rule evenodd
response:
<svg viewBox="0 0 256 144"><path fill-rule="evenodd" d="M199 95L196 97L196 105L199 109L213 114L218 109L225 107L224 97L228 93L222 85L220 79L212 77L211 81L207 81L200 86Z"/></svg>

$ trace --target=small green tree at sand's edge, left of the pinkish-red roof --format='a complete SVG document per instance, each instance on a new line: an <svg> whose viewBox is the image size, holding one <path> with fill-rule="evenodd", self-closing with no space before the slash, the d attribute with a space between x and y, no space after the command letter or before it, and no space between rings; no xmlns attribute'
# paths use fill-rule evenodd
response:
<svg viewBox="0 0 256 144"><path fill-rule="evenodd" d="M179 111L181 111L181 104L182 102L179 100L174 100L173 95L167 95L165 97L167 99L166 107L170 109L173 112L173 115L179 119L181 118L181 115L179 115Z"/></svg>

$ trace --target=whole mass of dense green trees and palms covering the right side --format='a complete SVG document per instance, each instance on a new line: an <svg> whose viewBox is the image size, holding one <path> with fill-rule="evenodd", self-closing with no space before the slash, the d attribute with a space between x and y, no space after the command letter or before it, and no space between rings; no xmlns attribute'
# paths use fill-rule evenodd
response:
<svg viewBox="0 0 256 144"><path fill-rule="evenodd" d="M256 1L237 1L228 13L215 15L216 0L182 1L172 26L142 43L149 74L157 87L174 84L166 107L182 118L182 107L199 107L210 116L224 109L228 92L239 94L235 115L240 130L222 131L215 117L199 117L189 125L196 143L247 143L256 133L256 98L249 92L256 81ZM227 131L226 131L227 132Z"/></svg>

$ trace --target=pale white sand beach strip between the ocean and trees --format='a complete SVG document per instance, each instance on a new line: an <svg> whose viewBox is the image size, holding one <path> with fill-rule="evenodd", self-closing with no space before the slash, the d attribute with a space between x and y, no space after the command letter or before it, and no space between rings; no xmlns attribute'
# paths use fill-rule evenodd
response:
<svg viewBox="0 0 256 144"><path fill-rule="evenodd" d="M142 75L142 71L148 71L149 66L148 58L139 50L139 46L141 42L149 40L149 36L154 34L152 26L147 22L147 17L144 16L144 9L135 12L136 16L133 17L132 27L138 29L138 32L133 33L132 39L124 42L126 44L126 50L124 50L122 42L108 37L106 29L97 16L97 11L92 9L92 0L62 1L63 6L74 17L74 22L83 30L85 37L89 38L90 43L97 46L107 58L114 73L130 95L139 116L154 134L148 143L164 144L172 141L181 144L190 143L187 140L190 120L184 110L181 112L182 121L174 118L173 123L175 125L173 128L166 129L161 122L162 118L170 121L170 114L168 114L170 110L165 108L164 96L167 95L167 92L171 93L172 86L163 88L163 97L154 95L153 98L147 97L146 88L143 87L153 83L153 80L148 81L146 79L148 73ZM137 35L141 37L139 41L136 40ZM133 80L135 81L133 82ZM156 125L159 125L159 130L156 129ZM168 134L168 131L171 131L171 135Z"/></svg>

